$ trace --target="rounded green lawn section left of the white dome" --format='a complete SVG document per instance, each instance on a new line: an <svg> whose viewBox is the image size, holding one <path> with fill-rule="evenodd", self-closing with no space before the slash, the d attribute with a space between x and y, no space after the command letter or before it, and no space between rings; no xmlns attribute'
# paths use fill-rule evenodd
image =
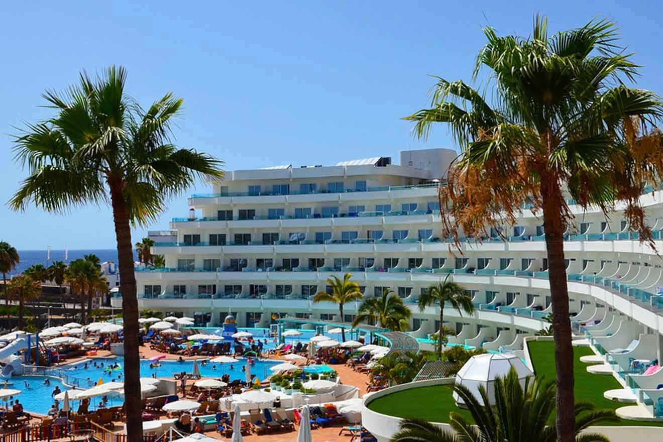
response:
<svg viewBox="0 0 663 442"><path fill-rule="evenodd" d="M450 412L463 415L472 421L467 410L455 406L452 398L453 384L411 388L377 398L369 409L395 417L418 417L433 422L449 422Z"/></svg>

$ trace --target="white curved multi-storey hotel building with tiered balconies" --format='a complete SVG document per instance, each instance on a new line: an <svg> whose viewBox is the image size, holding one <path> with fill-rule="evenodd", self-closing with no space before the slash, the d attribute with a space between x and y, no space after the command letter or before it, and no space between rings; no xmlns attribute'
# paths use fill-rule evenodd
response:
<svg viewBox="0 0 663 442"><path fill-rule="evenodd" d="M365 296L392 288L412 308L411 334L439 327L439 310L419 311L422 290L451 274L477 309L446 309L450 341L486 349L520 347L550 313L542 220L524 208L503 240L462 244L441 238L438 185L455 158L447 149L400 152L400 165L376 157L335 166L279 166L227 172L212 193L192 195L190 216L173 219L176 241L156 243L166 268L137 269L139 305L196 315L216 327L227 313L241 327L267 327L275 317L351 321L358 304L313 304L332 274L351 272ZM661 191L642 195L657 238ZM575 325L627 347L640 333L663 333L662 260L629 230L617 207L609 219L581 211L565 242ZM658 251L663 241L657 241ZM121 298L113 299L119 307ZM660 348L660 345L658 345ZM660 350L654 357L660 360Z"/></svg>

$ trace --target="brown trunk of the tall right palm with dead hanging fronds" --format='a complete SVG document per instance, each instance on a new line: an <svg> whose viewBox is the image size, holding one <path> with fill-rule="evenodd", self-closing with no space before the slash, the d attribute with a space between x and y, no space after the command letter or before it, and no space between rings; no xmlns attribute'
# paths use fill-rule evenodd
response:
<svg viewBox="0 0 663 442"><path fill-rule="evenodd" d="M547 181L547 182L546 182ZM547 186L546 186L547 184ZM552 298L552 329L555 341L557 382L556 428L559 442L575 441L575 400L573 398L573 346L569 319L569 293L564 263L564 222L562 219L562 191L557 180L544 180L544 233L548 251L548 274Z"/></svg>

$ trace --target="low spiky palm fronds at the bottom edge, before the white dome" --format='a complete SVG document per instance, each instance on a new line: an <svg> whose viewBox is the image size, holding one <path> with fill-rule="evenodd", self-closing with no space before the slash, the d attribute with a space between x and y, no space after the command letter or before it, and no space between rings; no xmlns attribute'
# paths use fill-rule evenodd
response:
<svg viewBox="0 0 663 442"><path fill-rule="evenodd" d="M524 387L516 370L511 368L507 376L495 378L495 406L482 405L463 384L455 384L453 390L465 402L474 422L460 414L450 413L450 425L454 432L441 429L428 421L416 418L403 419L400 431L390 442L556 442L555 427L546 425L555 410L555 384L544 384L538 378L528 377ZM483 404L491 404L483 386L479 386ZM576 442L609 442L604 435L581 431L602 421L618 421L613 410L594 410L589 402L576 402L573 406Z"/></svg>

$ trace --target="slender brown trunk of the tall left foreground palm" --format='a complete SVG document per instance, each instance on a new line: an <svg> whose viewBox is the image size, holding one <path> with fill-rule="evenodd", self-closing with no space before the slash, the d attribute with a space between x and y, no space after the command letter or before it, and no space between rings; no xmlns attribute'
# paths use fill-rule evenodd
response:
<svg viewBox="0 0 663 442"><path fill-rule="evenodd" d="M124 325L124 392L127 415L127 442L142 442L143 419L141 415L141 366L139 359L138 299L136 277L133 268L133 247L129 210L122 193L121 183L109 183L111 204L117 240L117 258L122 294L122 318Z"/></svg>

